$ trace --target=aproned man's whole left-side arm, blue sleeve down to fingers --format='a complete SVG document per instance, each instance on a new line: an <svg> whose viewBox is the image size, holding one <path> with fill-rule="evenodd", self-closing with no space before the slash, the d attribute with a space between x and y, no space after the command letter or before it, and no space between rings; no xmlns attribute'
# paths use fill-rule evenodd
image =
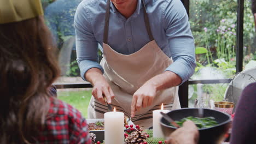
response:
<svg viewBox="0 0 256 144"><path fill-rule="evenodd" d="M95 99L105 104L111 103L114 93L108 82L103 77L103 68L97 63L97 41L92 31L90 14L86 13L83 2L78 5L74 17L75 40L77 49L77 61L84 80L89 81L94 88L92 95Z"/></svg>

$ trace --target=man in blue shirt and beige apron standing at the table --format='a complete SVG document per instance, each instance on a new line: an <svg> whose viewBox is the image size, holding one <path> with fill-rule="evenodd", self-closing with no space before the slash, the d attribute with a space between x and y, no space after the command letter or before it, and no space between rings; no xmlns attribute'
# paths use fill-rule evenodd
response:
<svg viewBox="0 0 256 144"><path fill-rule="evenodd" d="M81 76L94 86L89 118L103 117L104 97L133 122L152 118L161 103L168 110L180 107L175 86L187 81L196 65L180 0L86 0L78 5L74 26Z"/></svg>

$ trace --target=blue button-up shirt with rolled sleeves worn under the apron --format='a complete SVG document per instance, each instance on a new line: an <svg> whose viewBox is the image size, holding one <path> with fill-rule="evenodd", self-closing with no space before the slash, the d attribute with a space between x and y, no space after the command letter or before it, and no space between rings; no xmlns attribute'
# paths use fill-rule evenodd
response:
<svg viewBox="0 0 256 144"><path fill-rule="evenodd" d="M188 80L196 65L195 47L182 2L144 2L156 43L174 61L166 70L179 75L182 82ZM77 61L84 80L84 74L90 68L99 68L103 72L101 65L97 63L97 44L102 46L103 43L106 4L107 0L85 0L78 5L75 13ZM138 0L135 12L128 19L118 12L113 3L110 4L108 45L113 50L129 55L140 50L149 41L141 0Z"/></svg>

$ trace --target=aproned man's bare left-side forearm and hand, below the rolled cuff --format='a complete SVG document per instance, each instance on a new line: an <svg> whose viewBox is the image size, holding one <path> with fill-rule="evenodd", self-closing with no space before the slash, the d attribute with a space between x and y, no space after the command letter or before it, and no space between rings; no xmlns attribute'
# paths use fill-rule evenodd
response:
<svg viewBox="0 0 256 144"><path fill-rule="evenodd" d="M94 95L94 98L100 101L102 104L106 104L106 101L104 100L104 97L107 99L107 103L111 104L112 99L114 98L114 93L109 86L109 83L105 79L105 77L102 75L102 72L100 69L97 68L91 68L85 73L86 80L91 82L92 86L92 95Z"/></svg>

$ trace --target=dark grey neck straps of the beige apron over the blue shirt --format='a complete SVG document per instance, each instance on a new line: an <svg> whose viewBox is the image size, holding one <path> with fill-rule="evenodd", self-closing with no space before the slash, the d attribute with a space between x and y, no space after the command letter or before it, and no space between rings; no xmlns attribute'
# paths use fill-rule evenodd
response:
<svg viewBox="0 0 256 144"><path fill-rule="evenodd" d="M138 0L138 1L140 1L140 0ZM142 1L142 5L143 5L144 22L145 22L146 29L148 32L148 37L149 37L150 41L152 41L152 40L154 40L154 37L153 37L153 34L150 29L148 14L146 11L146 5L144 3L144 0L141 0L141 1ZM103 43L105 43L105 44L108 43L109 11L110 11L110 0L107 1L106 14L105 14L104 35L103 35Z"/></svg>

